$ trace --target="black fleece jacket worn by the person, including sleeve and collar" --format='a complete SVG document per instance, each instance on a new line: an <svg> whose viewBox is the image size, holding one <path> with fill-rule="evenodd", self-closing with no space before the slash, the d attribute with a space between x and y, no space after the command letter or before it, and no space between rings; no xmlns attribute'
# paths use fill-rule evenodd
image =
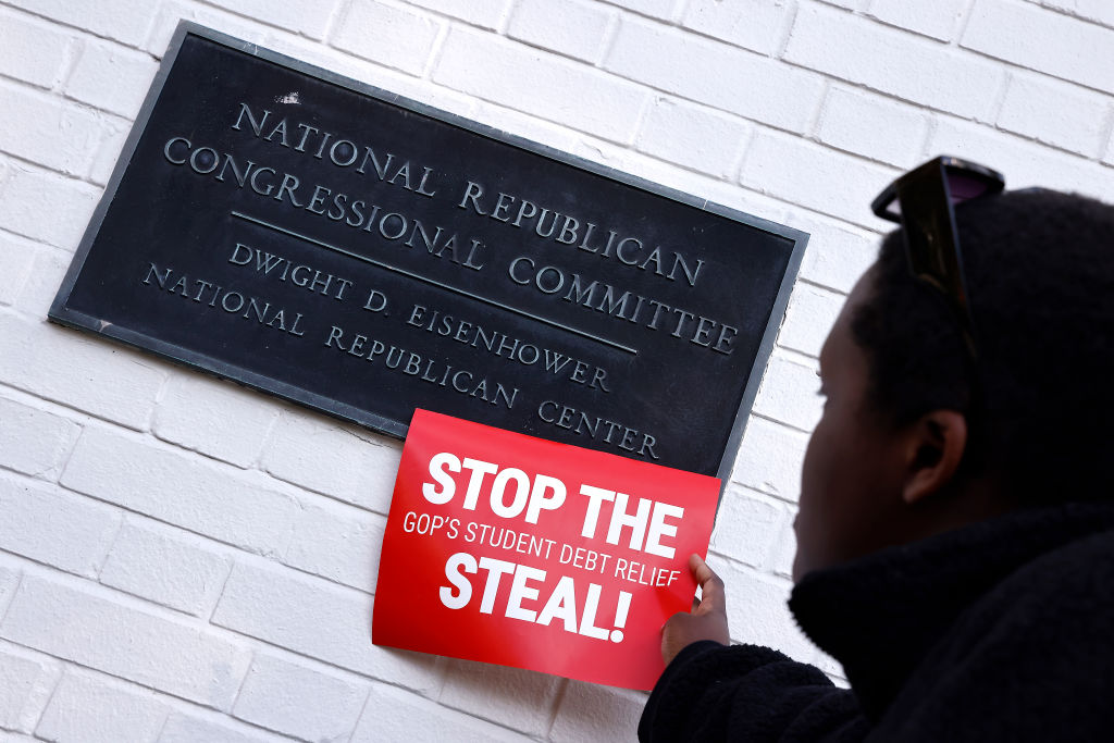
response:
<svg viewBox="0 0 1114 743"><path fill-rule="evenodd" d="M643 712L673 741L1114 741L1114 505L1014 511L805 576L790 608L850 690L694 643Z"/></svg>

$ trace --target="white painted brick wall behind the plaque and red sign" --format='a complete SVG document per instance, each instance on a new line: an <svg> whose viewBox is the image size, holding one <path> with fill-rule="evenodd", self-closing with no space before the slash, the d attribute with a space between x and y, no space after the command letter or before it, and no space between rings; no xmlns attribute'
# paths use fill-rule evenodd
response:
<svg viewBox="0 0 1114 743"><path fill-rule="evenodd" d="M784 599L815 356L939 151L1114 193L1107 0L0 0L0 740L632 740L643 695L374 647L401 444L46 323L179 18L811 233L712 544Z"/></svg>

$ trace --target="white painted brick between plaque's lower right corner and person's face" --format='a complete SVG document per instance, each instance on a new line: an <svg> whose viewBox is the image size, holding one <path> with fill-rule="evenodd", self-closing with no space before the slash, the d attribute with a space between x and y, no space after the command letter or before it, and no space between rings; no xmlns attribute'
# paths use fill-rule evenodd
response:
<svg viewBox="0 0 1114 743"><path fill-rule="evenodd" d="M819 388L818 382L807 381ZM808 443L808 434L752 416L743 432L732 479L785 500L797 500Z"/></svg>

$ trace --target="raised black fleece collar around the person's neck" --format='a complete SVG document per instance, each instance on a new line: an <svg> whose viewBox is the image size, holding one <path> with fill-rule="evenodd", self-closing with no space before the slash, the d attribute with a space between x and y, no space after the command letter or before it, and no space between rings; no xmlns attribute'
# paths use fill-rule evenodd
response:
<svg viewBox="0 0 1114 743"><path fill-rule="evenodd" d="M1110 529L1114 505L1017 510L810 573L789 604L877 721L964 609L1040 555Z"/></svg>

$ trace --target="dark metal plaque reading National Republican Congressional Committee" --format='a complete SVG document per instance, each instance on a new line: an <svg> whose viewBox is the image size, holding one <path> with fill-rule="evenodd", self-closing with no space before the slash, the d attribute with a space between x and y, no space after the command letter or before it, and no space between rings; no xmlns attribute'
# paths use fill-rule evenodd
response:
<svg viewBox="0 0 1114 743"><path fill-rule="evenodd" d="M50 317L726 477L805 239L183 23Z"/></svg>

